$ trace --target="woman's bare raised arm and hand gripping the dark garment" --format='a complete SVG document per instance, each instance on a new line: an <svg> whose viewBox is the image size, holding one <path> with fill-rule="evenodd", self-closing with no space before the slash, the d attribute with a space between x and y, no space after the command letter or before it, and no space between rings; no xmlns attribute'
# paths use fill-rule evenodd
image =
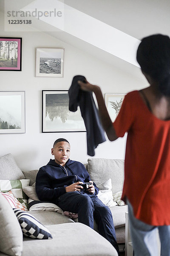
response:
<svg viewBox="0 0 170 256"><path fill-rule="evenodd" d="M103 95L100 87L97 85L90 84L88 83L88 81L86 83L82 81L78 81L78 83L82 90L94 92L97 99L97 104L99 107L99 115L102 122L102 126L108 136L108 139L111 141L116 140L118 137L116 136L116 132L114 130L108 110L106 108L105 101L103 99Z"/></svg>

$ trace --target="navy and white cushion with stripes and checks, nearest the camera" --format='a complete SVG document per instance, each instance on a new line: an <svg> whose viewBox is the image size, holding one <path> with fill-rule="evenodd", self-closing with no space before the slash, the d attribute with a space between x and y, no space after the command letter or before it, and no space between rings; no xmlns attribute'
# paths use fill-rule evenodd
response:
<svg viewBox="0 0 170 256"><path fill-rule="evenodd" d="M37 218L25 211L14 209L24 236L36 239L52 239L49 230Z"/></svg>

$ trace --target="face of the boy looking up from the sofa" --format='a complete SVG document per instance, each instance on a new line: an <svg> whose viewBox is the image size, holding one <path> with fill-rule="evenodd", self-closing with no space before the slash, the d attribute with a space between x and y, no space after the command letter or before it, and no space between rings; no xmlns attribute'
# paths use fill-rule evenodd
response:
<svg viewBox="0 0 170 256"><path fill-rule="evenodd" d="M51 148L51 154L54 156L56 163L65 166L70 157L70 144L65 141L58 142L54 148Z"/></svg>

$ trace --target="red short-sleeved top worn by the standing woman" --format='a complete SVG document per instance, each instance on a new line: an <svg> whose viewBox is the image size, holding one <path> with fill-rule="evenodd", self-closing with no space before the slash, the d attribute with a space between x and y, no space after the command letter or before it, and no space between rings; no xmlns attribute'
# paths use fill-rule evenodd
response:
<svg viewBox="0 0 170 256"><path fill-rule="evenodd" d="M170 225L170 120L154 116L133 91L125 96L113 127L118 137L128 133L122 199L128 198L139 220Z"/></svg>

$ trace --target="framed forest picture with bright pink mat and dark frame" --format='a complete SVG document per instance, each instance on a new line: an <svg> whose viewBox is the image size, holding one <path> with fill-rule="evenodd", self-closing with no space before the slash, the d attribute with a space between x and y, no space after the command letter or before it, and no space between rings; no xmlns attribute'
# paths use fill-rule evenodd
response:
<svg viewBox="0 0 170 256"><path fill-rule="evenodd" d="M0 70L21 71L22 38L0 37Z"/></svg>

